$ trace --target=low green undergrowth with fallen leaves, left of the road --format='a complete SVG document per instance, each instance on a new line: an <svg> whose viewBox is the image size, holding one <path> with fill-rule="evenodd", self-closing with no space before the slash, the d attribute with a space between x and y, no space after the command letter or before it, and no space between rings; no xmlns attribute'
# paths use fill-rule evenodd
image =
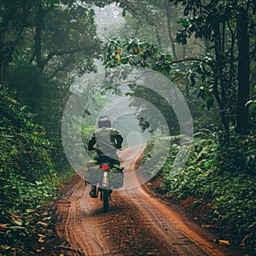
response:
<svg viewBox="0 0 256 256"><path fill-rule="evenodd" d="M44 216L42 222L42 212L60 177L44 127L7 91L0 90L0 102L0 255L30 255L42 250L42 230L50 221ZM32 240L42 246L33 248Z"/></svg>

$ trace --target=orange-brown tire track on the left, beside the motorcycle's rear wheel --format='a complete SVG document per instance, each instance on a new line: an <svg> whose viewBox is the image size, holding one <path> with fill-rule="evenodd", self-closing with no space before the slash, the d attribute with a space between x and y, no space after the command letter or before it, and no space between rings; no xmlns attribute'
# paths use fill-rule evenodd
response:
<svg viewBox="0 0 256 256"><path fill-rule="evenodd" d="M102 234L96 209L100 206L90 200L89 191L84 180L75 176L55 206L55 230L63 241L67 241L64 255L110 255L108 247L99 239Z"/></svg>

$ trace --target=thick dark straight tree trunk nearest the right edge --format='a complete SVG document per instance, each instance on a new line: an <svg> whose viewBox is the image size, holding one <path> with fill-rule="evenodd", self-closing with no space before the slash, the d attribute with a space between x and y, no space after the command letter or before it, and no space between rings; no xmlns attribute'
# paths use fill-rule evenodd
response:
<svg viewBox="0 0 256 256"><path fill-rule="evenodd" d="M238 46L238 96L236 131L246 134L249 128L249 111L246 102L250 93L249 38L247 33L247 9L240 8L236 16Z"/></svg>

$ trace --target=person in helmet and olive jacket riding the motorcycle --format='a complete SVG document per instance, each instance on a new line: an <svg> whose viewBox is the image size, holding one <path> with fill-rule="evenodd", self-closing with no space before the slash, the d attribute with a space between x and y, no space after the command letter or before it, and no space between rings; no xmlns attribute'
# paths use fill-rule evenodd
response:
<svg viewBox="0 0 256 256"><path fill-rule="evenodd" d="M123 137L118 130L111 127L111 119L102 115L98 119L98 129L88 143L89 150L96 150L95 160L99 163L102 156L108 157L113 165L119 166L117 150L122 148ZM96 197L96 186L91 185L90 196Z"/></svg>

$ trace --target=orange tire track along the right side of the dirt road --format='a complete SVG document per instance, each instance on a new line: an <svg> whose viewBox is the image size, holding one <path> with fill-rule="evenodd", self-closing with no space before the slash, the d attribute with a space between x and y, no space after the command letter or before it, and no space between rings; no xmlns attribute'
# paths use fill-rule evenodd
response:
<svg viewBox="0 0 256 256"><path fill-rule="evenodd" d="M129 155L131 155L129 150L132 149L124 152L122 158L125 166L128 165L132 172L136 169L137 160L129 159ZM125 161L125 159L128 160ZM125 181L124 187L132 186L134 188L136 183L139 184L136 175L133 175ZM218 246L211 234L189 222L181 212L172 209L165 201L155 198L154 193L149 191L145 185L121 190L120 195L129 197L130 203L140 209L141 215L154 225L154 236L161 237L162 243L167 245L170 250L169 254L161 255L235 255Z"/></svg>

